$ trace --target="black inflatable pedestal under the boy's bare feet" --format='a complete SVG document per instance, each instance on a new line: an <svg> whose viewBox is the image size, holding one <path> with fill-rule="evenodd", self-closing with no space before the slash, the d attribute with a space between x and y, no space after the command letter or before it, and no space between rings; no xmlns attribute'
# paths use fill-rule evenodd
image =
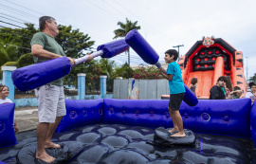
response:
<svg viewBox="0 0 256 164"><path fill-rule="evenodd" d="M186 137L171 137L173 134L168 131L169 129L165 129L163 127L155 129L154 144L162 147L174 147L174 145L195 145L195 136L191 130L184 129Z"/></svg>

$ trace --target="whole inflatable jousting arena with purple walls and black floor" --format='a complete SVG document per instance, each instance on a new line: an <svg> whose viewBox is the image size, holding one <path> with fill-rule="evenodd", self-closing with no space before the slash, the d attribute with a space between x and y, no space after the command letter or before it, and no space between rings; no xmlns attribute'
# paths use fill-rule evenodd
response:
<svg viewBox="0 0 256 164"><path fill-rule="evenodd" d="M198 100L195 106L183 101L180 114L188 137L174 138L182 144L158 137L173 126L169 100L65 102L67 115L53 136L62 148L47 150L54 163L256 163L256 106L250 99ZM0 110L5 112L0 118L0 160L44 163L34 158L36 131L15 137L14 104L1 104Z"/></svg>

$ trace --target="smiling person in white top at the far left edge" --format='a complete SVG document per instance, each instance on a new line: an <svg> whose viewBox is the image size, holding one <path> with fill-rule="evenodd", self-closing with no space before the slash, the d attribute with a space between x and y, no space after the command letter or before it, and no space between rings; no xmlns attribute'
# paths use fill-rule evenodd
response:
<svg viewBox="0 0 256 164"><path fill-rule="evenodd" d="M12 100L9 100L7 97L9 96L9 87L6 85L0 84L0 104L2 103L12 103ZM19 132L19 127L17 125L17 122L15 120L15 116L13 116L14 120L14 131L16 133Z"/></svg>

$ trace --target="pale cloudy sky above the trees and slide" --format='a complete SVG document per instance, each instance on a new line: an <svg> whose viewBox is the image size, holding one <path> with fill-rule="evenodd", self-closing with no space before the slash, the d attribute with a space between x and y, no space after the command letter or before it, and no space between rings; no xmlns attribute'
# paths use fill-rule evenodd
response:
<svg viewBox="0 0 256 164"><path fill-rule="evenodd" d="M137 21L139 32L161 61L173 46L184 45L180 54L185 55L202 36L214 35L243 52L245 76L248 66L250 77L256 73L255 6L253 0L1 0L0 15L8 14L37 27L40 16L50 15L58 24L88 33L96 41L95 47L111 42L117 23L128 18ZM127 61L125 54L114 60L119 64ZM132 51L131 64L145 63Z"/></svg>

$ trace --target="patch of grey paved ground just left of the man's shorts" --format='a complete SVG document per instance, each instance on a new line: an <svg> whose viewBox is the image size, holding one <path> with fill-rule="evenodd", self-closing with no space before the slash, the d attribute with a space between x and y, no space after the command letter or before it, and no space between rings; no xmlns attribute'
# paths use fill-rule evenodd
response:
<svg viewBox="0 0 256 164"><path fill-rule="evenodd" d="M37 106L15 108L15 118L20 132L34 130L38 124Z"/></svg>

